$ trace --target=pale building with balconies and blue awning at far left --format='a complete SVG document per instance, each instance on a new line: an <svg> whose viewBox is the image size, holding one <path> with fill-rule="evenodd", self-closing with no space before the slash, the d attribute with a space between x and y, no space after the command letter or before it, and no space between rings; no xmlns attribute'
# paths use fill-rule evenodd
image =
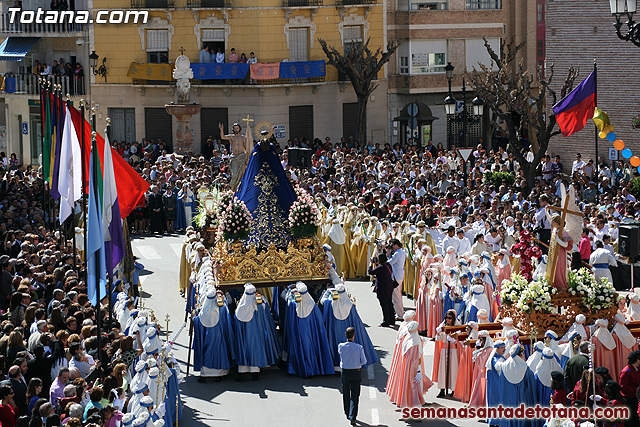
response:
<svg viewBox="0 0 640 427"><path fill-rule="evenodd" d="M13 4L2 3L0 14L0 151L16 153L24 164L38 164L42 153L39 79L61 85L72 101L89 91L89 26L87 24L37 24L11 22L8 10ZM35 11L43 3L22 2L23 13ZM87 10L86 0L76 0L74 7ZM25 19L26 20L26 19ZM70 75L56 76L53 67L64 62ZM36 74L37 64L51 67L51 74ZM75 71L80 66L82 72Z"/></svg>

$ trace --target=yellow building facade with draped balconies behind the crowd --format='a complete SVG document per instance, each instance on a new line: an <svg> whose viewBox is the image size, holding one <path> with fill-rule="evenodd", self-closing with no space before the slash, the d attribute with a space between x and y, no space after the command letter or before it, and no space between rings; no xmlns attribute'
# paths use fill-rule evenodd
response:
<svg viewBox="0 0 640 427"><path fill-rule="evenodd" d="M93 6L149 13L146 24L96 24L92 34L94 49L107 58L108 69L106 81L98 77L91 85L97 126L102 129L110 117L112 139L120 141L170 141L176 125L164 107L176 101L175 81L132 75L132 64L141 69L173 64L181 52L192 64L199 63L204 46L220 49L226 62L235 49L238 56L254 52L259 63L284 64L325 60L319 38L339 50L368 38L374 50L384 44L384 6L373 0L265 0L259 6L250 0L96 0ZM368 105L368 137L383 143L387 85L380 83ZM325 76L315 78L192 80L190 102L202 106L191 121L195 151L209 136L219 135L219 123L225 132L234 122L244 129L247 118L252 125L276 126L283 143L327 136L335 142L355 135L355 94L330 66Z"/></svg>

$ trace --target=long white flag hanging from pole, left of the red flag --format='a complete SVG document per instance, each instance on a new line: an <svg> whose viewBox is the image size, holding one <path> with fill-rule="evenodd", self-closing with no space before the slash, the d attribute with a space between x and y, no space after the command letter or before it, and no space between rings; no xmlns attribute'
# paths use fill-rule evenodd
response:
<svg viewBox="0 0 640 427"><path fill-rule="evenodd" d="M82 198L82 152L78 134L71 121L69 107L65 108L64 131L60 147L58 192L60 193L60 223L73 213L73 204Z"/></svg>

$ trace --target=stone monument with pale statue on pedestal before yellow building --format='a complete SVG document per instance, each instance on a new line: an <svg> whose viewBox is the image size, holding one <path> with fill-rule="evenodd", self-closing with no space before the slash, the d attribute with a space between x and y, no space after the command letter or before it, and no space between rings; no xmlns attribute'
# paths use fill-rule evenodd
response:
<svg viewBox="0 0 640 427"><path fill-rule="evenodd" d="M176 80L178 103L165 105L167 113L176 117L177 126L173 138L173 150L176 154L187 154L193 151L193 135L191 134L191 117L200 114L200 105L189 104L189 92L193 78L193 70L189 58L184 56L184 49L180 48L180 56L176 58L173 78Z"/></svg>

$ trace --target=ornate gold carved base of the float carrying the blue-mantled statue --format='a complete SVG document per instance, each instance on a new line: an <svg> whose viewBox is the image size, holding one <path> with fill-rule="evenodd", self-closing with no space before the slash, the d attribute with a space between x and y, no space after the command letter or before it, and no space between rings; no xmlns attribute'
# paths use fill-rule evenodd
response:
<svg viewBox="0 0 640 427"><path fill-rule="evenodd" d="M219 242L214 250L221 287L329 281L325 258L317 238L298 239L289 243L286 251L271 245L258 252L255 246L242 242Z"/></svg>

